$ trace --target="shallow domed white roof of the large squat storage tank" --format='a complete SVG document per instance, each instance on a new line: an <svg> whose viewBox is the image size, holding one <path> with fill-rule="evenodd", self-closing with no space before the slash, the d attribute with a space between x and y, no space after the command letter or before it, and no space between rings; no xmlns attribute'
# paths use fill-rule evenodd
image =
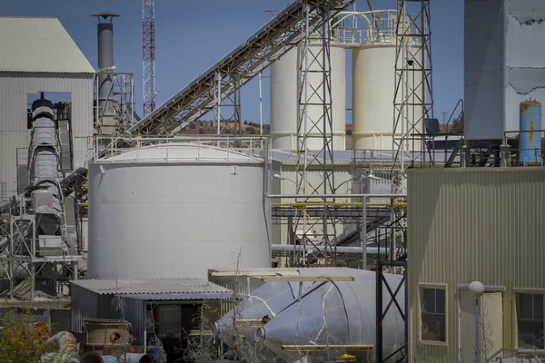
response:
<svg viewBox="0 0 545 363"><path fill-rule="evenodd" d="M107 159L96 160L97 163L127 162L211 162L211 163L262 163L263 160L241 152L221 149L210 145L187 142L164 143L144 146L122 152Z"/></svg>

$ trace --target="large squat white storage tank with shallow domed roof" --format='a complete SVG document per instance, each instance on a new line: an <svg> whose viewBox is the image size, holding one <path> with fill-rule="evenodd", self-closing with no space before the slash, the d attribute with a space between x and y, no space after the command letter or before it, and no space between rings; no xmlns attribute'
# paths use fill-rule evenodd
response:
<svg viewBox="0 0 545 363"><path fill-rule="evenodd" d="M207 278L270 267L263 161L190 143L89 165L90 279Z"/></svg>

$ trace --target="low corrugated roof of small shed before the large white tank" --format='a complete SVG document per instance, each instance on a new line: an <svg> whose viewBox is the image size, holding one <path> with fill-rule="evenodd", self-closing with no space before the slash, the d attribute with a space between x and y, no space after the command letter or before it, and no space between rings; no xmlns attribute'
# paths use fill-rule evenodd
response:
<svg viewBox="0 0 545 363"><path fill-rule="evenodd" d="M99 295L230 294L232 292L230 289L203 279L76 280L72 283Z"/></svg>

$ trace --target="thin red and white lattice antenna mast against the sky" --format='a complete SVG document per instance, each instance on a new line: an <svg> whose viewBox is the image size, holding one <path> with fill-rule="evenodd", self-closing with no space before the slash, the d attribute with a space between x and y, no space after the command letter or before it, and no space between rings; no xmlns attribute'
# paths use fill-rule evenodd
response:
<svg viewBox="0 0 545 363"><path fill-rule="evenodd" d="M142 0L144 117L155 109L155 0Z"/></svg>

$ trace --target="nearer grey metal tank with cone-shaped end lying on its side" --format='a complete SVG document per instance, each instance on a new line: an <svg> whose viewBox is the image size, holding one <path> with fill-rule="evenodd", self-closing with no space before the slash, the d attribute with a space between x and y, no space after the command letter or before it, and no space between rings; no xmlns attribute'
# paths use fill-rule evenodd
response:
<svg viewBox="0 0 545 363"><path fill-rule="evenodd" d="M384 274L391 286L401 283L401 275ZM376 276L364 270L353 282L322 283L305 291L301 302L295 300L283 309L257 335L279 357L292 361L298 352L282 350L282 345L373 345L375 344ZM384 294L386 306L390 295ZM397 302L405 303L404 288ZM404 344L404 322L397 309L389 309L383 320L384 353L388 357ZM312 353L322 354L322 353Z"/></svg>

